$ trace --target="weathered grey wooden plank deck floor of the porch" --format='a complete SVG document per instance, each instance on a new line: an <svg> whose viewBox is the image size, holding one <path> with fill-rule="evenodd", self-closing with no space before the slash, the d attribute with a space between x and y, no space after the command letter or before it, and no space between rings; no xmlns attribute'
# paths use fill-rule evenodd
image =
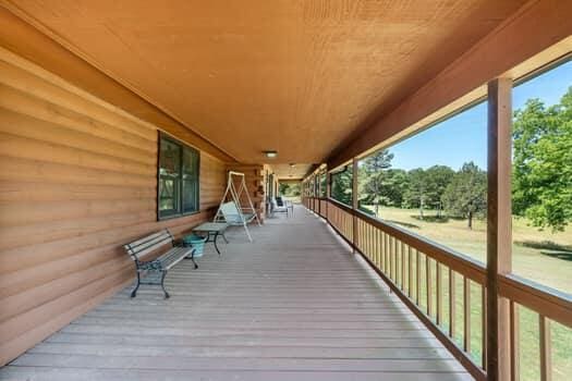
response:
<svg viewBox="0 0 572 381"><path fill-rule="evenodd" d="M131 287L0 369L0 380L470 380L327 225L296 208L229 234L194 270ZM209 246L211 246L209 244Z"/></svg>

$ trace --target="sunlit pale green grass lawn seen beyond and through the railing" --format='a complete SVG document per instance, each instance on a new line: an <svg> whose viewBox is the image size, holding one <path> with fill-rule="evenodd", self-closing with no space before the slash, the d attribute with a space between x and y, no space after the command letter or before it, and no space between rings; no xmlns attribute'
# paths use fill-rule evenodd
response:
<svg viewBox="0 0 572 381"><path fill-rule="evenodd" d="M374 209L373 207L368 207ZM468 229L466 220L435 221L431 211L425 211L426 219L418 218L418 210L399 208L379 208L379 217L402 228L411 230L439 244L449 246L460 253L485 261L486 256L486 222L473 221ZM406 258L409 259L409 258ZM552 233L538 231L528 226L523 219L513 220L513 272L572 294L572 229ZM422 260L422 284L419 304L426 308L425 259ZM435 280L435 262L431 265ZM443 271L443 300L449 299L448 273ZM406 284L407 282L405 282ZM463 341L463 285L461 276L455 276L457 333L455 341ZM435 286L434 286L435 288ZM482 358L482 318L480 286L471 284L471 353L477 364ZM433 309L436 297L433 297ZM441 327L447 330L448 303L443 303L445 319ZM521 336L521 380L539 379L539 341L538 315L524 307L519 308ZM551 324L553 380L569 380L572 374L572 330L556 322Z"/></svg>

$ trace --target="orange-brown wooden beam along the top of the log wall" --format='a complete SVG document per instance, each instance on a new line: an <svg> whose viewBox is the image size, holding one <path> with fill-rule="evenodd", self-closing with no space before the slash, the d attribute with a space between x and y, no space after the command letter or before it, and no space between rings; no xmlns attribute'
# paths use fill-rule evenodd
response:
<svg viewBox="0 0 572 381"><path fill-rule="evenodd" d="M137 116L157 128L227 162L236 161L191 127L143 99L114 78L46 36L0 3L0 46L72 85Z"/></svg>

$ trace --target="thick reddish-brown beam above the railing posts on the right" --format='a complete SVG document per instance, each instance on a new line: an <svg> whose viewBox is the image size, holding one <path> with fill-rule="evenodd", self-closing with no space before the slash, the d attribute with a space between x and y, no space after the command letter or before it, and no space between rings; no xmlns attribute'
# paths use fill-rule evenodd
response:
<svg viewBox="0 0 572 381"><path fill-rule="evenodd" d="M334 149L328 157L328 168L379 147L413 125L421 127L419 121L467 94L483 96L478 88L488 81L569 37L572 34L570 14L572 1L527 2L395 109L349 144Z"/></svg>

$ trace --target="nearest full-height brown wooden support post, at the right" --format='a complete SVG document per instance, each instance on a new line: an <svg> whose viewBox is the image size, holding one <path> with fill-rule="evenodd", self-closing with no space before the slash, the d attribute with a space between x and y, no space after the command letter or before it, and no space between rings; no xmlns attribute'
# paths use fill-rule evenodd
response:
<svg viewBox="0 0 572 381"><path fill-rule="evenodd" d="M512 81L488 83L487 376L510 380L510 308L498 275L511 272Z"/></svg>

